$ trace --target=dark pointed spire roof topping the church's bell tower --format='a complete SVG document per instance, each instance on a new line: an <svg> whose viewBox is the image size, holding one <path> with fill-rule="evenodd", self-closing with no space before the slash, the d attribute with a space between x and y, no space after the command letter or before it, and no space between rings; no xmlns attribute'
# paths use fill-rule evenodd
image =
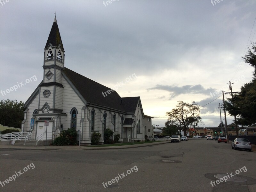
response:
<svg viewBox="0 0 256 192"><path fill-rule="evenodd" d="M60 31L59 31L59 27L57 24L57 20L56 20L56 16L54 18L53 24L52 24L52 29L51 32L49 34L48 40L46 42L45 48L48 47L48 45L50 44L50 40L51 40L51 44L53 47L58 47L59 44L61 45L61 48L64 50L63 48L63 44L61 41L61 37L60 37Z"/></svg>

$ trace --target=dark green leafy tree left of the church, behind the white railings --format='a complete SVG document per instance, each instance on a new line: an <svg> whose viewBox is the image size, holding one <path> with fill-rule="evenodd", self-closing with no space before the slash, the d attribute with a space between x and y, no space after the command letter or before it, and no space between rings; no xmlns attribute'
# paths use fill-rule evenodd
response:
<svg viewBox="0 0 256 192"><path fill-rule="evenodd" d="M8 127L21 128L24 118L24 103L17 100L0 101L0 124Z"/></svg>

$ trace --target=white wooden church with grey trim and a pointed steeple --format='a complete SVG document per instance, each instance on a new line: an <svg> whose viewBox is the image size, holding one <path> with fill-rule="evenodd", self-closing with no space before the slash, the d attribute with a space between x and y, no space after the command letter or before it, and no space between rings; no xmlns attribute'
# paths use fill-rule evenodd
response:
<svg viewBox="0 0 256 192"><path fill-rule="evenodd" d="M93 132L111 129L120 142L145 140L153 135L153 117L143 113L140 97L120 97L117 92L102 96L110 88L65 67L64 47L56 16L44 47L44 79L25 102L21 132L32 133L32 140L46 131L53 139L68 128L80 132L81 145L91 145ZM39 66L38 66L39 68Z"/></svg>

